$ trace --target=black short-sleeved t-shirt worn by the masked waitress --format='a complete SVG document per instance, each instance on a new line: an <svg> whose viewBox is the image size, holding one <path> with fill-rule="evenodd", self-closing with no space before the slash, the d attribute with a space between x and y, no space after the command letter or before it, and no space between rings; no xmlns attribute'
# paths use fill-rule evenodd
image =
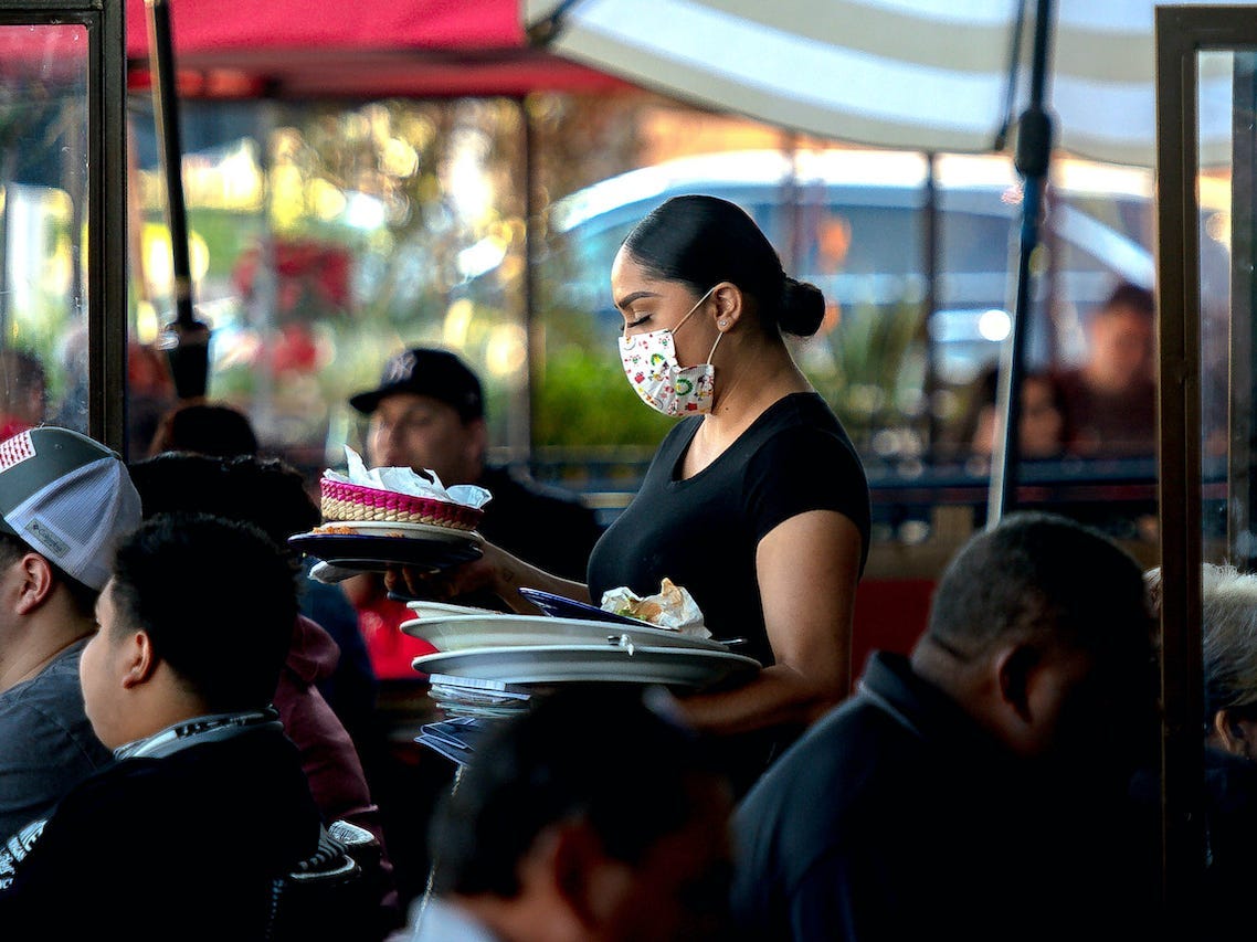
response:
<svg viewBox="0 0 1257 942"><path fill-rule="evenodd" d="M679 480L701 417L681 421L655 455L641 490L590 558L590 595L627 585L684 587L714 637L745 637L739 651L773 662L755 548L774 526L808 510L836 510L859 528L869 554L869 482L837 417L816 393L773 403L710 466Z"/></svg>

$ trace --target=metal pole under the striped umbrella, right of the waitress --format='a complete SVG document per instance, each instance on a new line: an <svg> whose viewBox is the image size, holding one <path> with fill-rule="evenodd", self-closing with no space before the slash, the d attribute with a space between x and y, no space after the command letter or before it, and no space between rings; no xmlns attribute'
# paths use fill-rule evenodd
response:
<svg viewBox="0 0 1257 942"><path fill-rule="evenodd" d="M1052 153L1052 118L1043 106L1047 85L1047 59L1052 28L1051 0L1038 0L1035 15L1035 53L1031 68L1029 104L1017 122L1017 171L1024 181L1022 193L1021 246L1017 259L1017 298L1013 324L1004 342L1003 369L996 412L1003 417L1003 436L997 437L991 465L991 491L987 501L987 528L1017 502L1017 476L1021 457L1021 379L1024 372L1026 319L1032 294L1031 259L1038 246L1043 187Z"/></svg>

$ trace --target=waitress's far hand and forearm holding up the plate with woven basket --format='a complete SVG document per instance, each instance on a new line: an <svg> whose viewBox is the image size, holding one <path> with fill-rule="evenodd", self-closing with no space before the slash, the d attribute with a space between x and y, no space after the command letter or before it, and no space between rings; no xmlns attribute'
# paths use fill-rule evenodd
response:
<svg viewBox="0 0 1257 942"><path fill-rule="evenodd" d="M393 592L407 592L415 598L445 600L471 592L488 589L515 612L535 614L537 607L519 594L520 588L541 589L577 602L590 600L585 583L561 579L491 543L480 544L484 555L471 563L430 573L414 566L390 569L385 582Z"/></svg>

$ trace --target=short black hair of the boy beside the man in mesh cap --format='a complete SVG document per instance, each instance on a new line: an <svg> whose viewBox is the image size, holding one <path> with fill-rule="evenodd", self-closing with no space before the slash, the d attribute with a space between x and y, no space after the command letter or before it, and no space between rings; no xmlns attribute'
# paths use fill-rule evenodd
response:
<svg viewBox="0 0 1257 942"><path fill-rule="evenodd" d="M297 618L287 560L254 526L161 514L118 548L113 604L209 712L266 707Z"/></svg>

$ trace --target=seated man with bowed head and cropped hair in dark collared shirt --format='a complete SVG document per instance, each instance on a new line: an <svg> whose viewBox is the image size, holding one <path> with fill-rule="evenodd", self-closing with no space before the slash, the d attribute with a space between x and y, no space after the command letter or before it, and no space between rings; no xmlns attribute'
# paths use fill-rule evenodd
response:
<svg viewBox="0 0 1257 942"><path fill-rule="evenodd" d="M875 654L738 809L739 929L1154 937L1156 820L1128 799L1156 741L1151 627L1097 533L1023 512L970 539L911 659Z"/></svg>

